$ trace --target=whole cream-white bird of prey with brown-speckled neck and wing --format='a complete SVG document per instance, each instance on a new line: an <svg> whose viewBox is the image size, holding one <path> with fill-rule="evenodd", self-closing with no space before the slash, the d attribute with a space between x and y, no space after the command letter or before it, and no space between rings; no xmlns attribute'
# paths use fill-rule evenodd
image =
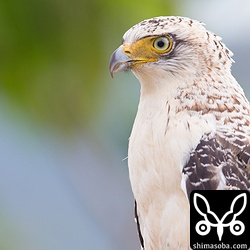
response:
<svg viewBox="0 0 250 250"><path fill-rule="evenodd" d="M156 17L130 28L111 75L141 84L128 167L145 250L189 249L192 190L250 190L250 105L232 52L203 23Z"/></svg>

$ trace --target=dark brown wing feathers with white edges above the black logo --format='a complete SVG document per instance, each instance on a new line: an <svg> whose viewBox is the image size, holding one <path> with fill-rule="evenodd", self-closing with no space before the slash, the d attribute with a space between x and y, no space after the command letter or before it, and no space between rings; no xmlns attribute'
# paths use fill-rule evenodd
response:
<svg viewBox="0 0 250 250"><path fill-rule="evenodd" d="M242 140L237 143L242 143ZM197 189L250 190L250 173L246 167L249 162L250 146L241 150L218 136L209 139L209 135L204 135L183 168L188 197L192 190ZM221 174L226 179L224 187Z"/></svg>

